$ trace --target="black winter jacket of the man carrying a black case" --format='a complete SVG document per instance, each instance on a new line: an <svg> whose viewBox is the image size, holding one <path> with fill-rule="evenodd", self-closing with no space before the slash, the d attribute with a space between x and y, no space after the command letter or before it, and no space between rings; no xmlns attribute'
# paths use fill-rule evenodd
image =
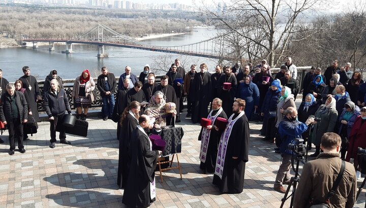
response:
<svg viewBox="0 0 366 208"><path fill-rule="evenodd" d="M71 113L66 92L64 89L60 89L59 87L57 89L57 95L52 92L52 89L48 90L44 96L43 107L46 109L48 117L65 114L65 111L68 111L69 114Z"/></svg>

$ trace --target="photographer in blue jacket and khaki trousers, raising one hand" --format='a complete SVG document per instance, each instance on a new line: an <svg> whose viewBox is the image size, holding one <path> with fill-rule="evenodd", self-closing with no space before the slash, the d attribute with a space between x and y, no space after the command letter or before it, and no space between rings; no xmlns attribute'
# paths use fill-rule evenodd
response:
<svg viewBox="0 0 366 208"><path fill-rule="evenodd" d="M288 107L284 111L284 119L279 125L279 134L282 143L280 152L282 164L278 170L274 188L276 191L285 193L286 190L282 184L289 184L289 171L291 167L292 151L287 149L288 144L294 143L295 138L301 138L301 134L308 130L308 125L314 122L314 118L308 118L305 123L297 120L297 110L294 107Z"/></svg>

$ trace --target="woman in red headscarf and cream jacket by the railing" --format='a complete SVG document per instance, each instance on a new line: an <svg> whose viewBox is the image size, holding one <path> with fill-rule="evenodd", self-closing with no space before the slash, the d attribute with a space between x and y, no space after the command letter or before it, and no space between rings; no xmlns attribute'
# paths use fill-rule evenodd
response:
<svg viewBox="0 0 366 208"><path fill-rule="evenodd" d="M76 77L71 96L75 99L75 107L77 110L77 119L86 120L89 105L94 102L93 91L95 82L90 77L89 70L85 69L80 76ZM81 108L84 109L84 114L81 114Z"/></svg>

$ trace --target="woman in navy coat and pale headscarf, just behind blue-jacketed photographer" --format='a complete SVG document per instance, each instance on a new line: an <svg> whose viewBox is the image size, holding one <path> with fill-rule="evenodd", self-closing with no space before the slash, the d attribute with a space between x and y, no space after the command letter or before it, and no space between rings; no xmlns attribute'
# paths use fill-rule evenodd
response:
<svg viewBox="0 0 366 208"><path fill-rule="evenodd" d="M305 100L300 104L300 107L297 109L297 118L300 122L305 122L310 115L315 115L315 112L318 110L319 105L317 104L313 94L308 94L305 97ZM302 133L302 139L304 142L307 141L309 137L309 131ZM309 149L311 149L311 143L309 142Z"/></svg>

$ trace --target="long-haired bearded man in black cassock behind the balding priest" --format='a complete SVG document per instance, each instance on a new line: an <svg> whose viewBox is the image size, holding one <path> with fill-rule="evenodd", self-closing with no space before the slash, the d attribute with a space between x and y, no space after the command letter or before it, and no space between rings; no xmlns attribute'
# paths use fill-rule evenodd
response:
<svg viewBox="0 0 366 208"><path fill-rule="evenodd" d="M133 101L130 106L125 108L120 123L121 131L119 135L119 156L118 156L118 174L117 184L119 188L125 188L128 181L130 168L130 156L128 154L130 142L133 140L132 131L138 125L140 112L140 103Z"/></svg>

